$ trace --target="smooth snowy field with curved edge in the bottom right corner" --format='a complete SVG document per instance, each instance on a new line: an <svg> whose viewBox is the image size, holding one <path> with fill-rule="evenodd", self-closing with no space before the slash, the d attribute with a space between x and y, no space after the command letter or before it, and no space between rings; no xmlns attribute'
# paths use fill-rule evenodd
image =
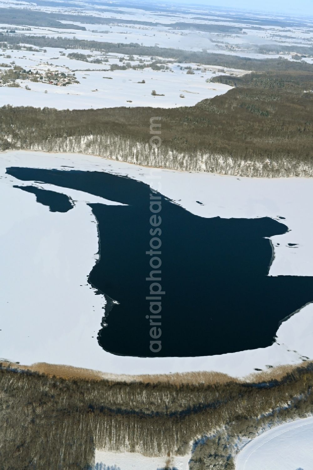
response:
<svg viewBox="0 0 313 470"><path fill-rule="evenodd" d="M313 417L281 424L250 441L235 459L236 470L311 470Z"/></svg>

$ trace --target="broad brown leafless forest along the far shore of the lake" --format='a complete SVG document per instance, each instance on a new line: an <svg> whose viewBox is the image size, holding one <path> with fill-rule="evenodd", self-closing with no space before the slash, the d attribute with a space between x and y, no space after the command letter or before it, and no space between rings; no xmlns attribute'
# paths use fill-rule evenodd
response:
<svg viewBox="0 0 313 470"><path fill-rule="evenodd" d="M234 87L193 107L4 106L0 149L82 152L187 171L313 176L312 65L306 64L304 70L302 64L296 66L242 78L213 78L212 85L219 81ZM158 149L149 145L150 118L155 116L161 117Z"/></svg>

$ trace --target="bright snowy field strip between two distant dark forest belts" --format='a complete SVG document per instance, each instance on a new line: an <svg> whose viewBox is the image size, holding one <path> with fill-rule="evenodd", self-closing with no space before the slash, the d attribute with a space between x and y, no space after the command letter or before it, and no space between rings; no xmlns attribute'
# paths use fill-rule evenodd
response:
<svg viewBox="0 0 313 470"><path fill-rule="evenodd" d="M137 18L134 18L136 19ZM175 18L179 21L180 18ZM189 22L189 19L184 18ZM147 19L145 20L147 21ZM68 23L68 22L66 22ZM208 53L222 53L227 55L234 55L239 57L249 57L251 59L265 59L277 58L283 56L291 58L290 55L277 54L277 53L264 53L258 52L258 45L297 45L297 46L311 46L313 40L313 32L305 32L305 28L290 31L291 39L279 39L275 36L278 34L283 35L283 28L261 28L260 30L251 30L243 28L245 34L217 34L204 31L193 30L171 30L169 28L161 28L159 26L147 27L140 25L130 24L83 24L74 22L80 26L86 27L86 31L79 31L75 29L57 29L45 27L30 27L31 31L21 31L23 34L31 36L47 36L49 38L75 38L83 40L93 40L99 42L110 43L137 43L150 47L171 47L175 49L182 49L186 51L202 51L205 49ZM214 23L213 23L214 24ZM223 23L219 23L223 24ZM226 23L229 24L229 23ZM234 24L234 26L242 26L241 24ZM12 27L12 25L1 24L0 27ZM13 25L14 27L14 25ZM17 33L19 31L16 31ZM309 59L310 61L313 58Z"/></svg>

